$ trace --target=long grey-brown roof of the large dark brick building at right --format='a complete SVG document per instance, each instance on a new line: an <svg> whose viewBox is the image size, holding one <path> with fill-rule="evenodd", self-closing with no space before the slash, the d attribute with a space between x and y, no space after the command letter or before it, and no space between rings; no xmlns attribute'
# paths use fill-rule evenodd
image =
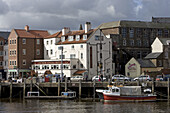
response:
<svg viewBox="0 0 170 113"><path fill-rule="evenodd" d="M169 28L170 29L170 23L120 20L120 21L103 23L101 24L100 29L114 28L114 27L166 28L166 29Z"/></svg>

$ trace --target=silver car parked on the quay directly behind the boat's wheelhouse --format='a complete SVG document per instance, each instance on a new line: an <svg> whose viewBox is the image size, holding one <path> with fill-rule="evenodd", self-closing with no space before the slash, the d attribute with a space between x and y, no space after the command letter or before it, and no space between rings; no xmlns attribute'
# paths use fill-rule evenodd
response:
<svg viewBox="0 0 170 113"><path fill-rule="evenodd" d="M131 81L131 78L125 76L125 75L121 75L121 74L118 74L118 75L113 75L112 77L112 81Z"/></svg>

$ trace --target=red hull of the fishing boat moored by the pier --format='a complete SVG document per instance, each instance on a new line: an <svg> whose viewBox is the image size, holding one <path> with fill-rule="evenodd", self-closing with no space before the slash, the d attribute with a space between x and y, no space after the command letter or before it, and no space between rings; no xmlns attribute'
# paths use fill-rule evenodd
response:
<svg viewBox="0 0 170 113"><path fill-rule="evenodd" d="M115 95L105 95L104 101L115 101L115 102L128 102L128 101L156 101L156 95L143 95L143 96L115 96Z"/></svg>

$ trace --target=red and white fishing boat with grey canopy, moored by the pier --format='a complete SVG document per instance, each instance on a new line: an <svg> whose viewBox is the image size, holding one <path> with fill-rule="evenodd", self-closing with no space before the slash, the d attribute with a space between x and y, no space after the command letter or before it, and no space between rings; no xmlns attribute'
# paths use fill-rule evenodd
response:
<svg viewBox="0 0 170 113"><path fill-rule="evenodd" d="M102 93L104 102L156 101L156 95L142 92L141 86L112 86Z"/></svg>

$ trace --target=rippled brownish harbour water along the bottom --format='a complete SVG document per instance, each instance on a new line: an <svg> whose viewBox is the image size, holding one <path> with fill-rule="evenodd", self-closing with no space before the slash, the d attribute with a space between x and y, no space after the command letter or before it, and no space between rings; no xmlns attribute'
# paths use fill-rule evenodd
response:
<svg viewBox="0 0 170 113"><path fill-rule="evenodd" d="M170 113L169 102L0 99L0 113Z"/></svg>

